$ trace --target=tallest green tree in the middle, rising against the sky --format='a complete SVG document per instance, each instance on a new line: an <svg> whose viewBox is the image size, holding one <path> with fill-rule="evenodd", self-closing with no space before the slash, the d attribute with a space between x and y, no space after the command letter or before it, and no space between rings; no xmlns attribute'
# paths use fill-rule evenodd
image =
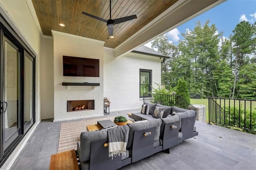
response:
<svg viewBox="0 0 256 170"><path fill-rule="evenodd" d="M180 69L188 82L188 88L190 92L199 92L203 97L216 94L213 71L219 59L219 34L216 33L216 26L209 26L209 23L208 20L202 25L198 21L194 30L182 34L183 41L178 45L182 56Z"/></svg>

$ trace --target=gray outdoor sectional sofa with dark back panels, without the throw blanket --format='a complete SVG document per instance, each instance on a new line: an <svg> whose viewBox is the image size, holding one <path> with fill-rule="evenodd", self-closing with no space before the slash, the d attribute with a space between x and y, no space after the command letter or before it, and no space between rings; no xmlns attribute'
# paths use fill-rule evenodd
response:
<svg viewBox="0 0 256 170"><path fill-rule="evenodd" d="M77 145L81 169L118 169L160 151L170 153L170 147L198 135L194 128L196 111L161 105L165 107L163 117L156 119L151 114L153 107L160 105L149 105L148 115L132 113L129 117L136 122L124 125L128 126L126 155L109 157L108 147L104 147L108 129L82 132Z"/></svg>

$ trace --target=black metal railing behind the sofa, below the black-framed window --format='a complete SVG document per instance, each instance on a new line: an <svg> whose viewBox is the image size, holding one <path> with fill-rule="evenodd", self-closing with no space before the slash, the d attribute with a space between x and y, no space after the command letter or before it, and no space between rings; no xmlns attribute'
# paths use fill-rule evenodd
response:
<svg viewBox="0 0 256 170"><path fill-rule="evenodd" d="M174 94L148 94L143 95L144 102L162 104L165 106L176 106L183 109L192 109L196 111L196 108L187 102L182 96Z"/></svg>

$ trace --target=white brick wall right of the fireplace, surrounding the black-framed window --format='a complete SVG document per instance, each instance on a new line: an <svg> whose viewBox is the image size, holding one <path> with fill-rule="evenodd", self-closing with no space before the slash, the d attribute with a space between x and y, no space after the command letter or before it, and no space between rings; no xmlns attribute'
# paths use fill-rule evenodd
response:
<svg viewBox="0 0 256 170"><path fill-rule="evenodd" d="M137 57L135 57L137 56ZM152 70L152 85L161 82L161 59L145 55L114 58L104 50L104 97L110 98L110 111L140 108L140 69Z"/></svg>

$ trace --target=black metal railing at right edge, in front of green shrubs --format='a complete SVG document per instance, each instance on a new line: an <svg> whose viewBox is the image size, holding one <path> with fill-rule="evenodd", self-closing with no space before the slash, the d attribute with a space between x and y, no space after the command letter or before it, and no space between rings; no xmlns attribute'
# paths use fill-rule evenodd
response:
<svg viewBox="0 0 256 170"><path fill-rule="evenodd" d="M256 100L209 97L209 123L256 134Z"/></svg>

